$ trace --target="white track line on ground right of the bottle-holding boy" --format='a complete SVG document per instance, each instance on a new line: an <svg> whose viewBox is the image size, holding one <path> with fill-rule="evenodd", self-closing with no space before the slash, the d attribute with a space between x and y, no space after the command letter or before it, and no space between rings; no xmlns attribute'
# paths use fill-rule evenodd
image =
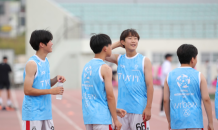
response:
<svg viewBox="0 0 218 130"><path fill-rule="evenodd" d="M83 130L76 123L74 123L70 118L68 118L64 113L62 113L56 106L52 105L52 109L60 115L64 120L66 120L70 125L72 125L76 130Z"/></svg>

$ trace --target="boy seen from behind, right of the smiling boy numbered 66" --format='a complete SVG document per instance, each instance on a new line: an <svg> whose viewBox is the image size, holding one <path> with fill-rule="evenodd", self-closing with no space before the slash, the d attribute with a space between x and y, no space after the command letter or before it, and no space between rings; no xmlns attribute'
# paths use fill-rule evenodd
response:
<svg viewBox="0 0 218 130"><path fill-rule="evenodd" d="M177 50L181 67L171 71L164 85L164 108L169 130L203 130L201 100L208 118L208 130L214 130L212 108L203 74L195 70L198 50L183 44Z"/></svg>

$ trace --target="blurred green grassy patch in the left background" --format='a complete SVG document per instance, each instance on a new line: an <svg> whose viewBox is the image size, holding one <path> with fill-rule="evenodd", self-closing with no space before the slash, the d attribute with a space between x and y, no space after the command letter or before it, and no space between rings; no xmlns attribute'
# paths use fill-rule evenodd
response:
<svg viewBox="0 0 218 130"><path fill-rule="evenodd" d="M0 38L0 49L14 49L15 55L25 54L25 34L16 38Z"/></svg>

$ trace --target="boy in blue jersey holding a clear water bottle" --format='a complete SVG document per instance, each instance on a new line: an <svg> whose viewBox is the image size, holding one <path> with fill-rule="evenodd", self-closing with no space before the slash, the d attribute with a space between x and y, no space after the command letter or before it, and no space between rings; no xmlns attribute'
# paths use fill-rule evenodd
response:
<svg viewBox="0 0 218 130"><path fill-rule="evenodd" d="M49 62L46 58L52 52L53 36L46 30L35 30L30 44L36 51L24 69L24 99L22 104L23 130L54 130L51 109L51 94L63 94L63 87L51 89L63 76L50 79Z"/></svg>

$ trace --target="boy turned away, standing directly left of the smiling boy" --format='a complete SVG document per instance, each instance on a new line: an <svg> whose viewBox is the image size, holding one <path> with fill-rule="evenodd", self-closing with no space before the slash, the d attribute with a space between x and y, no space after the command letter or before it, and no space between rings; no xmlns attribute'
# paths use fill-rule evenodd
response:
<svg viewBox="0 0 218 130"><path fill-rule="evenodd" d="M125 111L116 110L112 87L112 70L104 60L111 55L111 39L105 34L91 37L90 47L95 57L89 61L82 72L82 111L86 130L112 130L112 119L115 129L122 124L117 119Z"/></svg>

